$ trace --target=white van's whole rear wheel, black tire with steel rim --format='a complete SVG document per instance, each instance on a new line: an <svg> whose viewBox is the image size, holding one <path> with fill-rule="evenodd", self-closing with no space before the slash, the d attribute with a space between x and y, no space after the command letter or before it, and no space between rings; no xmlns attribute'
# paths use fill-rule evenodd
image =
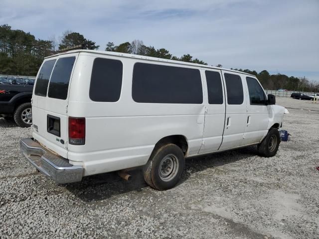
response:
<svg viewBox="0 0 319 239"><path fill-rule="evenodd" d="M175 144L165 144L154 150L144 166L144 179L154 189L170 189L180 180L184 166L182 150Z"/></svg>

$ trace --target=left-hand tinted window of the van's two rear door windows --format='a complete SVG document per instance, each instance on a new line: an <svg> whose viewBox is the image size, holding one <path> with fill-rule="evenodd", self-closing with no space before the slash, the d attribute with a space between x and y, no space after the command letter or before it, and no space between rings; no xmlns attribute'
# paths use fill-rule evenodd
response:
<svg viewBox="0 0 319 239"><path fill-rule="evenodd" d="M42 65L34 89L34 94L36 96L46 96L46 91L48 89L48 83L54 63L55 60L50 60L44 62L44 64Z"/></svg>

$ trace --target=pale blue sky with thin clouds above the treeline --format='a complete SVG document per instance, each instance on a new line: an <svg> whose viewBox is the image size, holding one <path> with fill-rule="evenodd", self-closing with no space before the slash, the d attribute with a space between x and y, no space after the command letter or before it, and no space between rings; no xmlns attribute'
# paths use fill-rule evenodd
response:
<svg viewBox="0 0 319 239"><path fill-rule="evenodd" d="M209 65L319 81L319 0L0 0L0 24L36 38L134 39Z"/></svg>

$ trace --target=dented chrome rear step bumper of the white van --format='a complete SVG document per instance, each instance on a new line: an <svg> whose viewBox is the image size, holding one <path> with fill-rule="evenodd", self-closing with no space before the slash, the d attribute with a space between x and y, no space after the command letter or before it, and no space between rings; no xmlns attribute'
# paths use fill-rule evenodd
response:
<svg viewBox="0 0 319 239"><path fill-rule="evenodd" d="M74 183L82 180L82 166L70 164L69 160L51 153L33 138L21 139L20 150L32 166L57 183Z"/></svg>

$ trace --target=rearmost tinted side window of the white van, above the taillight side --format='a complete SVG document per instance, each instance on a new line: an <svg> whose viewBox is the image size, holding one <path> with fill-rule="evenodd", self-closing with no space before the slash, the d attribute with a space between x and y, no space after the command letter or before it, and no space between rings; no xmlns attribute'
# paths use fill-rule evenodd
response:
<svg viewBox="0 0 319 239"><path fill-rule="evenodd" d="M93 63L90 99L116 102L120 99L123 64L119 60L96 58Z"/></svg>

